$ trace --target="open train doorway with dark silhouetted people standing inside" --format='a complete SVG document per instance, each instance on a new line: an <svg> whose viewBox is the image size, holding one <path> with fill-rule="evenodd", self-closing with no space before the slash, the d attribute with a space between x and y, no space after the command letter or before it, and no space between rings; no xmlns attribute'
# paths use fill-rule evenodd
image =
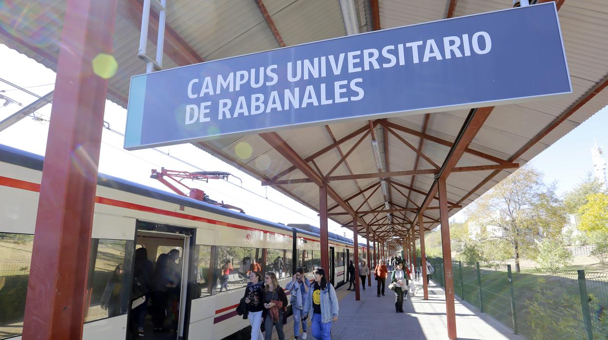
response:
<svg viewBox="0 0 608 340"><path fill-rule="evenodd" d="M194 241L195 229L137 223L127 340L188 338Z"/></svg>

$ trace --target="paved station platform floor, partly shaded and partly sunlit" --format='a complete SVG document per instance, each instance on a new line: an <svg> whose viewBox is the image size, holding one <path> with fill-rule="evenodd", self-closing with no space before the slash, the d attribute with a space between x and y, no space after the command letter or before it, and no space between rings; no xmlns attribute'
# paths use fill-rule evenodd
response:
<svg viewBox="0 0 608 340"><path fill-rule="evenodd" d="M372 280L371 287L361 290L359 301L354 299L354 291L347 290L348 285L337 288L340 313L331 327L331 339L447 339L445 295L441 286L429 283L429 300L423 300L422 290L416 292L416 296L408 294L403 304L405 313L395 313L395 293L388 285L387 282L385 296L377 297L376 281ZM458 339L525 339L458 297L455 310ZM310 322L308 325L310 327ZM290 316L283 328L286 340L293 339L293 327ZM272 339L278 339L276 331ZM313 339L309 330L307 340Z"/></svg>

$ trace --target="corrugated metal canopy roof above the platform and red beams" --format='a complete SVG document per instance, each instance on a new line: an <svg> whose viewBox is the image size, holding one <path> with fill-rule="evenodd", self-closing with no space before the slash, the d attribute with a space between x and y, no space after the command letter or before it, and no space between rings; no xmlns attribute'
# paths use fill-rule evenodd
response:
<svg viewBox="0 0 608 340"><path fill-rule="evenodd" d="M113 54L119 63L119 70L109 82L109 98L123 106L126 104L130 77L141 74L145 70L143 61L137 58L140 28L140 18L137 16L136 8L138 3L137 0L119 0L119 15L116 19ZM511 0L459 0L454 15L470 15L506 9L511 6L511 3ZM49 68L56 68L65 4L65 0L7 2L0 12L2 22L0 42ZM373 23L369 2L354 0L354 4L359 29L361 32L371 30ZM338 0L266 0L264 5L271 15L278 33L288 46L345 35ZM448 6L449 0L379 0L381 27L398 27L443 19ZM605 0L567 0L559 10L559 18L568 66L572 75L573 94L535 102L497 106L469 148L485 153L489 155L489 158L506 160L513 155L519 155L519 150L523 145L554 122L556 117L572 108L584 95L589 94L594 86L606 81L608 78L608 2ZM278 47L277 40L255 1L171 0L168 1L167 23L173 32L188 44L188 48L205 60ZM150 55L154 54L155 44L156 41L148 42ZM165 55L164 66L172 68L178 64ZM608 103L608 92L604 90L579 108L561 125L542 137L529 150L519 155L515 161L520 164L529 161L596 113L606 103ZM468 114L468 109L430 114L426 134L443 139L446 141L445 143L449 144L454 141ZM422 131L424 115L399 116L396 114L386 122L404 127L405 130ZM336 140L340 140L367 125L367 121L331 124L329 130ZM376 127L374 131L376 139L384 144L385 137L381 130L382 128ZM416 136L416 133L395 132L402 139L418 147L420 137ZM325 126L283 130L278 134L303 159L309 158L317 151L333 144L328 128ZM342 154L347 153L361 136L363 133L340 144ZM413 164L417 158L415 151L402 144L392 133L388 133L387 136L388 148L384 150L385 147L382 145L381 152L384 156L384 153L388 151L389 169L391 171L413 170ZM273 178L292 167L291 162L257 134L216 139L204 144L197 144L197 146L210 150L219 158L235 164L250 175L262 180ZM426 139L421 150L432 161L441 165L450 147ZM325 176L341 157L340 152L334 148L314 159L314 162L308 162L308 165L313 169L319 167L320 172ZM346 164L341 164L331 176L350 175L351 171L354 174L378 172L369 134L348 156L346 162L350 170ZM458 162L458 166L488 164L494 164L494 162L470 153L465 153ZM432 165L420 158L418 169L429 168L432 168ZM491 170L452 173L447 179L448 199L453 203L463 201L463 204L469 204L513 171L514 169L502 170L475 192L471 192L471 190L485 181L486 176L492 173ZM300 170L294 170L278 179L297 178L304 178ZM426 193L432 186L433 175L416 175L414 178L411 187L415 191L412 192L405 188L410 187L412 176L399 176L391 179L395 183L395 187L390 189L393 206L414 207L414 204L406 198L407 195L416 203L416 206L423 202L425 195L422 193ZM369 186L377 186L378 182L379 178L348 179L331 181L329 186L345 199ZM319 206L319 190L313 183L285 184L278 186L277 190L299 200L306 206ZM348 201L348 204L354 209L361 206L361 210L382 206L384 204L382 190L378 189L375 192L373 190L354 196ZM368 197L367 203L363 204L365 198ZM329 198L328 201L330 206L334 205L333 199ZM437 204L437 201L434 200L430 206L437 206ZM450 214L452 215L458 210L460 209L453 209ZM344 210L337 207L332 212L344 212ZM415 212L396 213L395 215L398 220L403 216L413 219ZM435 219L438 218L439 212L438 210L427 210L426 215ZM364 219L370 223L374 216L375 214L368 214ZM351 217L348 215L336 215L332 218L342 224L351 223ZM437 223L432 225L436 226ZM398 227L398 229L401 228Z"/></svg>

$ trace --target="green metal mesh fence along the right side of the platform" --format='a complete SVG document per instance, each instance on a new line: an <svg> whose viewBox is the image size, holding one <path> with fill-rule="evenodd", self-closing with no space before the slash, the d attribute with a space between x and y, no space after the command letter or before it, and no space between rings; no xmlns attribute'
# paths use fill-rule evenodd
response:
<svg viewBox="0 0 608 340"><path fill-rule="evenodd" d="M444 286L443 259L429 258ZM513 269L511 271L511 269ZM608 274L452 262L454 292L529 339L608 339Z"/></svg>

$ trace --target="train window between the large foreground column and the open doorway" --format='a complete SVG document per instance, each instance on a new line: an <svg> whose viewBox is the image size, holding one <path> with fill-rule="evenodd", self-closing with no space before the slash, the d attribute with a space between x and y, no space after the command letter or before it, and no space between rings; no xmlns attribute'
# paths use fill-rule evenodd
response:
<svg viewBox="0 0 608 340"><path fill-rule="evenodd" d="M89 306L85 322L126 314L131 288L130 270L125 268L126 250L133 251L133 241L91 240L91 257L86 299ZM128 261L129 267L131 261Z"/></svg>

